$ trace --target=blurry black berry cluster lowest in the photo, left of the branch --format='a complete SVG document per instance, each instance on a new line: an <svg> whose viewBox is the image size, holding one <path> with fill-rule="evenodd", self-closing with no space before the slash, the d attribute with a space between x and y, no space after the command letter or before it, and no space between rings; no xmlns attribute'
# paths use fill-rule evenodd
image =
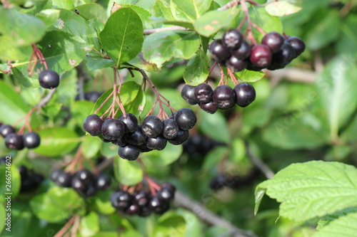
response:
<svg viewBox="0 0 357 237"><path fill-rule="evenodd" d="M130 194L128 191L119 190L111 194L111 205L128 215L149 216L151 213L164 214L170 209L170 201L174 199L176 188L165 183L153 196L144 189Z"/></svg>

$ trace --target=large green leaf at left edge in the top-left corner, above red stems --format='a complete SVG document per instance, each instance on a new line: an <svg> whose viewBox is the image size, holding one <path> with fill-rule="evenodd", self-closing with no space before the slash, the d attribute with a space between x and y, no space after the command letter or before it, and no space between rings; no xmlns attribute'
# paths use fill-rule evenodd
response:
<svg viewBox="0 0 357 237"><path fill-rule="evenodd" d="M14 9L4 9L2 6L0 6L0 16L0 58L25 59L26 54L21 52L22 47L41 40L46 31L45 23L36 16L22 14ZM25 53L28 51L26 49ZM27 57L30 54L27 54Z"/></svg>

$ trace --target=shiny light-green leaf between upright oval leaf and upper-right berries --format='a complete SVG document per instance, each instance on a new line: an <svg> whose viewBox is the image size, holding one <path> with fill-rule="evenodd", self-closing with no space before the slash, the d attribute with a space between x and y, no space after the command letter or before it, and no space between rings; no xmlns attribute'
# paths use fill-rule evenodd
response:
<svg viewBox="0 0 357 237"><path fill-rule="evenodd" d="M199 47L198 35L192 31L161 31L145 38L144 58L157 68L171 58L192 58Z"/></svg>

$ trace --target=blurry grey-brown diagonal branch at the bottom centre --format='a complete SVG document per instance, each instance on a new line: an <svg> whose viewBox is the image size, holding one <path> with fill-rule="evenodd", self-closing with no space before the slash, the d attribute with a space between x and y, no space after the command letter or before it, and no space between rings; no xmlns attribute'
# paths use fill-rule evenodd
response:
<svg viewBox="0 0 357 237"><path fill-rule="evenodd" d="M220 216L213 214L212 211L206 209L206 207L202 206L202 204L198 203L197 201L193 201L185 194L182 194L180 191L175 192L175 203L178 204L178 206L182 206L183 208L192 211L194 214L196 214L196 216L198 216L198 218L201 218L202 221L206 221L207 223L210 223L213 226L221 226L228 228L228 230L232 233L231 236L256 237L256 235L251 231L245 231L236 226L233 226L233 224L227 221L226 219L223 219Z"/></svg>

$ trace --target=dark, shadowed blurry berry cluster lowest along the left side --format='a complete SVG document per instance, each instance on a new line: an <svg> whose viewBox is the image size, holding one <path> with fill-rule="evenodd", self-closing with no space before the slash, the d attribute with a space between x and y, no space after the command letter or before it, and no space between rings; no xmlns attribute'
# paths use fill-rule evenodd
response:
<svg viewBox="0 0 357 237"><path fill-rule="evenodd" d="M27 169L24 165L18 167L21 176L21 192L32 191L44 180L41 174L36 174L33 169Z"/></svg>

